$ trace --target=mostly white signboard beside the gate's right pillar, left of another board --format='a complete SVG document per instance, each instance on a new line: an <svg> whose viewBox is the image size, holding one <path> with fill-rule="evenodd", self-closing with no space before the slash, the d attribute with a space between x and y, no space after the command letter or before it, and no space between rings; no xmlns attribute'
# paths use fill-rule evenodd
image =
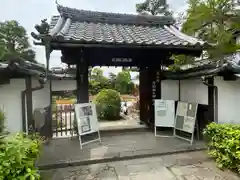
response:
<svg viewBox="0 0 240 180"><path fill-rule="evenodd" d="M174 127L175 101L155 99L155 136L157 127Z"/></svg>

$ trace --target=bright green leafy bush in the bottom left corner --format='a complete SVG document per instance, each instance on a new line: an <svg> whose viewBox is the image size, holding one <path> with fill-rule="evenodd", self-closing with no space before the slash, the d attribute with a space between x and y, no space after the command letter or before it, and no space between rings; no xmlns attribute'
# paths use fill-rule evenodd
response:
<svg viewBox="0 0 240 180"><path fill-rule="evenodd" d="M7 136L0 144L1 180L38 180L36 160L40 153L41 141L38 136L25 134Z"/></svg>

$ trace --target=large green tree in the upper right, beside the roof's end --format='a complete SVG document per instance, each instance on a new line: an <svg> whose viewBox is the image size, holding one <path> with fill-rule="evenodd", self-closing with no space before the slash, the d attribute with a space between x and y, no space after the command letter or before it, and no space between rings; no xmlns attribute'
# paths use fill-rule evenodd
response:
<svg viewBox="0 0 240 180"><path fill-rule="evenodd" d="M182 31L214 44L208 49L209 58L222 57L239 49L233 30L240 28L240 14L232 0L189 0Z"/></svg>

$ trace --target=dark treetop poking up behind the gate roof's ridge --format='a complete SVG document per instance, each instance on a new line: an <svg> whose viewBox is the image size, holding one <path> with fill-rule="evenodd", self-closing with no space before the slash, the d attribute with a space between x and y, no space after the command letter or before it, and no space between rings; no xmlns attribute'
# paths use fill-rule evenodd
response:
<svg viewBox="0 0 240 180"><path fill-rule="evenodd" d="M136 4L136 9L139 14L144 15L172 15L166 0L145 0L143 3Z"/></svg>

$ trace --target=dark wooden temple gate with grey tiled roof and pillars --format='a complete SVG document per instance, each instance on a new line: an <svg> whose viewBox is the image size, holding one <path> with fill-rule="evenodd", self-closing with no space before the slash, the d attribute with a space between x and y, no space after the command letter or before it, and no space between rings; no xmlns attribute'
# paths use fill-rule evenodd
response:
<svg viewBox="0 0 240 180"><path fill-rule="evenodd" d="M77 101L89 102L88 67L138 67L140 72L140 120L154 124L154 99L161 98L162 68L173 64L173 54L200 56L205 43L181 33L174 19L90 12L57 5L58 16L46 20L32 33L36 45L50 53L60 50L62 62L76 65ZM47 80L47 79L46 79Z"/></svg>

